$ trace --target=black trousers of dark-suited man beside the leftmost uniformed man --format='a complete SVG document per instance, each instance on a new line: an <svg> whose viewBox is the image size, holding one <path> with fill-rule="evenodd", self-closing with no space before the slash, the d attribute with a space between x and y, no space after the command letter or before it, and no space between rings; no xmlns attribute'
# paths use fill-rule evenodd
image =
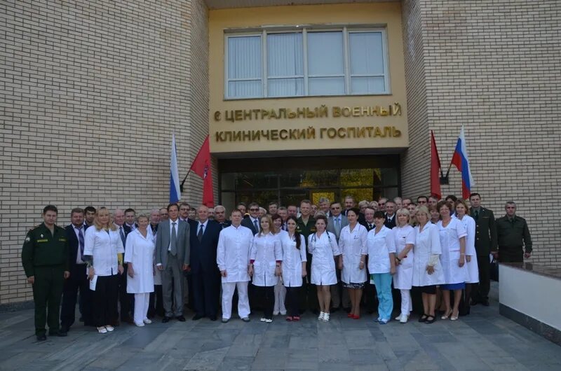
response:
<svg viewBox="0 0 561 371"><path fill-rule="evenodd" d="M60 326L69 328L76 319L76 302L80 291L80 304L83 324L93 326L93 304L90 281L86 274L86 264L76 264L72 267L69 279L65 280L62 288L62 307L60 309Z"/></svg>

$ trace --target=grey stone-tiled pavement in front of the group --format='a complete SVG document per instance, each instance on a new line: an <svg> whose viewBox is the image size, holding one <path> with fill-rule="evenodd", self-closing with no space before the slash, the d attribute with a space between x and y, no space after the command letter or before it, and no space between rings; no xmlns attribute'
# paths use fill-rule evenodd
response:
<svg viewBox="0 0 561 371"><path fill-rule="evenodd" d="M432 325L340 312L329 323L188 318L107 335L79 323L40 344L32 317L0 314L0 370L561 370L561 347L499 316L497 302Z"/></svg>

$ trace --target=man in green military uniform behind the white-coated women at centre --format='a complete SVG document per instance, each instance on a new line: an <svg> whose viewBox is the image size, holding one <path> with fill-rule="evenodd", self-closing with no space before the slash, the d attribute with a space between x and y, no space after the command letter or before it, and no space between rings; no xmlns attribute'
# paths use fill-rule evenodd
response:
<svg viewBox="0 0 561 371"><path fill-rule="evenodd" d="M307 280L310 279L311 277L311 254L308 253L308 236L311 235L312 233L316 233L316 219L313 218L313 216L311 216L311 201L310 200L302 200L302 202L300 202L300 217L298 218L298 223L296 225L296 230L302 235L304 236L304 239L306 240L306 255L308 258L308 262L306 262L306 271L308 272L307 274ZM306 287L307 286L307 290ZM310 283L308 283L306 285L305 281L302 282L302 287L304 288L303 290L300 290L300 295L302 295L300 297L300 303L301 305L303 303L306 302L306 291L307 291L307 295L308 295L308 309L310 309L313 314L318 314L318 296L316 293L316 286L312 285ZM301 309L301 311L303 311L303 308Z"/></svg>

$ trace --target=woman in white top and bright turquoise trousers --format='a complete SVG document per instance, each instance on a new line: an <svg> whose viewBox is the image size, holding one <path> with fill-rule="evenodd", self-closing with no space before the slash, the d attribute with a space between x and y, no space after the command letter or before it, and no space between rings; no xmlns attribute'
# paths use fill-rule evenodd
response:
<svg viewBox="0 0 561 371"><path fill-rule="evenodd" d="M396 273L396 247L392 242L392 232L384 225L384 211L374 212L374 225L367 235L368 272L376 286L378 295L378 323L390 321L393 310L391 296L391 276ZM371 281L371 282L372 282Z"/></svg>

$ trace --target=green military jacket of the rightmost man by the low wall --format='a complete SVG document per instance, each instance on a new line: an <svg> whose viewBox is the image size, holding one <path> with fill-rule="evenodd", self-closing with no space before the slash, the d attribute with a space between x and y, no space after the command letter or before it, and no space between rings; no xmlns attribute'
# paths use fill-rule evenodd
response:
<svg viewBox="0 0 561 371"><path fill-rule="evenodd" d="M496 234L499 238L499 262L523 262L522 247L526 253L532 253L532 238L525 218L518 215L498 218Z"/></svg>

